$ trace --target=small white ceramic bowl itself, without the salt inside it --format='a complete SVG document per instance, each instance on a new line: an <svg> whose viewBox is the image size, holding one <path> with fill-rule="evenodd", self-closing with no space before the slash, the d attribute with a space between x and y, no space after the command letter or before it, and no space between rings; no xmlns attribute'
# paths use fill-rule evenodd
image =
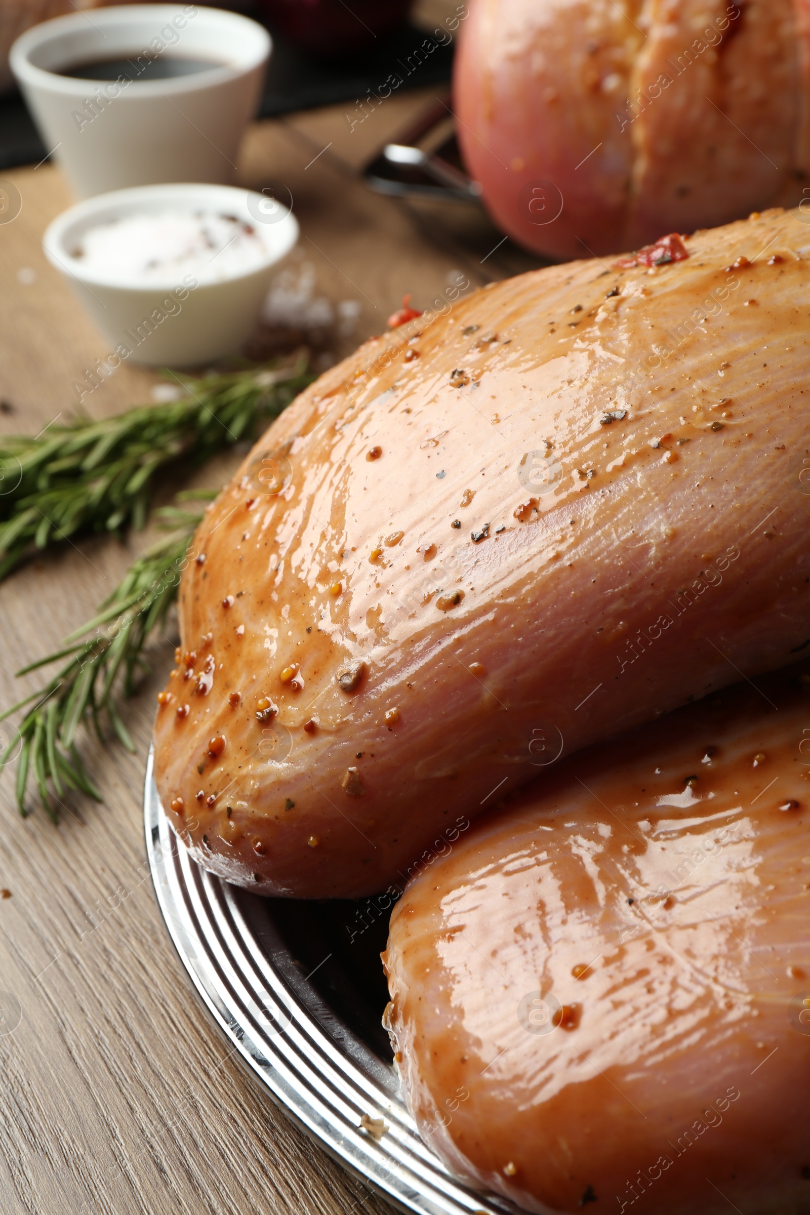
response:
<svg viewBox="0 0 810 1215"><path fill-rule="evenodd" d="M253 225L266 258L249 271L215 278L180 275L145 284L83 267L73 256L84 233L126 215L166 210L215 210ZM253 332L272 267L294 247L299 226L289 208L234 186L137 186L77 203L49 226L45 253L66 276L107 343L102 362L129 358L151 366L192 367L239 349ZM191 286L188 278L197 282ZM183 281L185 279L185 281Z"/></svg>

